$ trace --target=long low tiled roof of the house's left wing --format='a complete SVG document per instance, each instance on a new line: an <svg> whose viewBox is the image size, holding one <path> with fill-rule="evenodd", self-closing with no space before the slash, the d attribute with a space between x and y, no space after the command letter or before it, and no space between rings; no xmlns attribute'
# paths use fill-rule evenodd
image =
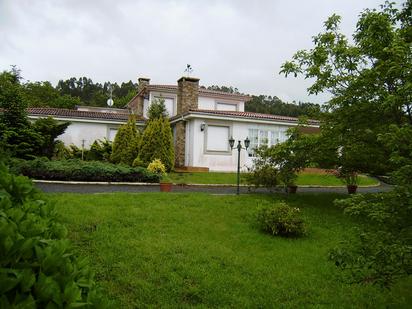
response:
<svg viewBox="0 0 412 309"><path fill-rule="evenodd" d="M99 111L79 111L75 109L51 108L51 107L34 107L28 108L30 116L53 116L62 118L81 118L81 119L104 119L113 121L127 121L130 113L125 110L124 113L108 113ZM138 118L138 120L143 120Z"/></svg>

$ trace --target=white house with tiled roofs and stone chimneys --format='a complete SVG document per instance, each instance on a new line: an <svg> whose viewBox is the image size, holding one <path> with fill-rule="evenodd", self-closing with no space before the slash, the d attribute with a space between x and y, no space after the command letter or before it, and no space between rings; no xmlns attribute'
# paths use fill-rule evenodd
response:
<svg viewBox="0 0 412 309"><path fill-rule="evenodd" d="M137 115L137 126L143 127L148 107L153 100L162 98L173 128L175 167L211 171L236 170L238 153L230 149L230 137L242 144L246 137L250 140L249 149L240 155L245 169L253 164L256 147L285 141L286 131L298 124L293 117L245 112L251 97L199 87L198 78L182 77L177 85L155 85L148 78L139 78L138 84L138 93L126 109L32 108L29 117L53 116L70 121L72 124L60 139L65 144L87 148L96 139L113 140L130 113ZM310 121L309 127L317 128L318 123Z"/></svg>

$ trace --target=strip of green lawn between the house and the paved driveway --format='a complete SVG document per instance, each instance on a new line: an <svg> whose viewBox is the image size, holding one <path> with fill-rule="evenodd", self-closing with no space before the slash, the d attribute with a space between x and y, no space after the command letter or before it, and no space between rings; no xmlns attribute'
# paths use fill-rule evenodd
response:
<svg viewBox="0 0 412 309"><path fill-rule="evenodd" d="M171 180L178 184L236 184L236 173L170 173ZM367 176L360 176L360 186L376 185L378 181ZM241 174L241 183L246 184L244 174ZM333 175L321 175L312 173L300 173L297 179L297 185L313 186L344 186L339 178Z"/></svg>

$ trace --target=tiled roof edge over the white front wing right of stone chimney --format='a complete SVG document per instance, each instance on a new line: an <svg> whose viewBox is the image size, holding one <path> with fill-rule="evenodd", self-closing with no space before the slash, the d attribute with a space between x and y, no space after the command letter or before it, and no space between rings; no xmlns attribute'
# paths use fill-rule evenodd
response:
<svg viewBox="0 0 412 309"><path fill-rule="evenodd" d="M272 114L260 114L252 112L236 112L236 111L220 111L220 110L207 110L207 109L190 109L186 114L201 114L201 115L216 115L216 116L229 116L234 118L246 118L246 119L258 119L258 120L273 120L280 122L292 122L298 123L299 119L296 117L272 115ZM176 117L178 118L178 117ZM319 121L309 120L309 125L318 126Z"/></svg>

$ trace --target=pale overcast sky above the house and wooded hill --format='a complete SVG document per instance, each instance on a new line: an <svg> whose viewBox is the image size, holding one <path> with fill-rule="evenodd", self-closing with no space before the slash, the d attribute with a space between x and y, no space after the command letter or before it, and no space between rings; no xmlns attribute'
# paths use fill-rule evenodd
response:
<svg viewBox="0 0 412 309"><path fill-rule="evenodd" d="M201 85L321 103L308 81L278 74L281 64L333 13L351 35L374 0L0 0L0 70L26 80L87 76L95 82L176 84L186 64Z"/></svg>

